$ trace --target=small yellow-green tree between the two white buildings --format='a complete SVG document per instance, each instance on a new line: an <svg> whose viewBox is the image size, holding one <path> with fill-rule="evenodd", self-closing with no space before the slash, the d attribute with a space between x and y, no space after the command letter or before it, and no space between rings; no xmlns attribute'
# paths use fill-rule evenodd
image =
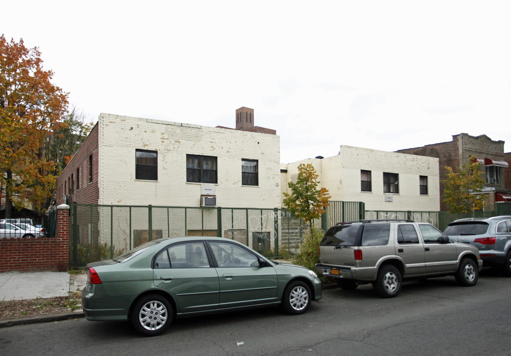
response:
<svg viewBox="0 0 511 356"><path fill-rule="evenodd" d="M284 193L286 197L284 204L289 211L296 217L303 219L312 232L312 220L318 219L328 207L330 194L326 188L317 189L319 182L316 170L311 164L300 164L298 166L298 177L296 183L289 182L288 187L291 194Z"/></svg>

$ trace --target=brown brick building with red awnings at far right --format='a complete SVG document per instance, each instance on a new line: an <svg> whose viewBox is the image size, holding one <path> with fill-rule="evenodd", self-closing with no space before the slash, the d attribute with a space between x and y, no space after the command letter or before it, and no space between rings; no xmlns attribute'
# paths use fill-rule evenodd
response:
<svg viewBox="0 0 511 356"><path fill-rule="evenodd" d="M440 210L447 210L447 206L442 203L445 189L442 181L447 179L445 167L461 167L473 155L481 162L480 169L484 174L483 192L487 195L484 209L494 211L496 202L505 202L506 199L511 199L508 194L510 185L506 184L506 179L509 180L509 163L507 163L509 158L506 162L507 154L504 154L504 141L493 141L486 135L470 136L468 133L460 133L453 135L450 142L400 149L396 152L438 158Z"/></svg>

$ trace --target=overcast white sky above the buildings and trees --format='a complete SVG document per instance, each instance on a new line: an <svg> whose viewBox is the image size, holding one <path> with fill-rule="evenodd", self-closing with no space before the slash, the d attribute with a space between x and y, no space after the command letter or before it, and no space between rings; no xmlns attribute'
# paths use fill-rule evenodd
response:
<svg viewBox="0 0 511 356"><path fill-rule="evenodd" d="M467 132L511 151L508 1L5 1L0 33L39 47L100 113L281 137L281 162L394 151Z"/></svg>

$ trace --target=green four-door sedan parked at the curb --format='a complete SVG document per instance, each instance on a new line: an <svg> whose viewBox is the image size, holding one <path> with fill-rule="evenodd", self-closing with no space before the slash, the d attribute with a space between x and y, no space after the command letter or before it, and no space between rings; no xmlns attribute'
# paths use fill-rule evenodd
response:
<svg viewBox="0 0 511 356"><path fill-rule="evenodd" d="M146 336L174 318L281 305L302 314L321 299L321 281L304 267L272 262L220 237L146 242L112 260L89 263L82 307L88 320L131 320Z"/></svg>

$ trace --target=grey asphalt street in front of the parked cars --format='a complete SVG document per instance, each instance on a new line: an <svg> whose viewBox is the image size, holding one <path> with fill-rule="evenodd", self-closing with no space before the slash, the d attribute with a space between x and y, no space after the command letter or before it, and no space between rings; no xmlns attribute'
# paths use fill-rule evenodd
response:
<svg viewBox="0 0 511 356"><path fill-rule="evenodd" d="M301 316L279 308L175 320L139 336L127 322L72 319L0 329L5 355L510 355L511 278L482 271L474 287L454 277L409 282L397 298L339 288Z"/></svg>

